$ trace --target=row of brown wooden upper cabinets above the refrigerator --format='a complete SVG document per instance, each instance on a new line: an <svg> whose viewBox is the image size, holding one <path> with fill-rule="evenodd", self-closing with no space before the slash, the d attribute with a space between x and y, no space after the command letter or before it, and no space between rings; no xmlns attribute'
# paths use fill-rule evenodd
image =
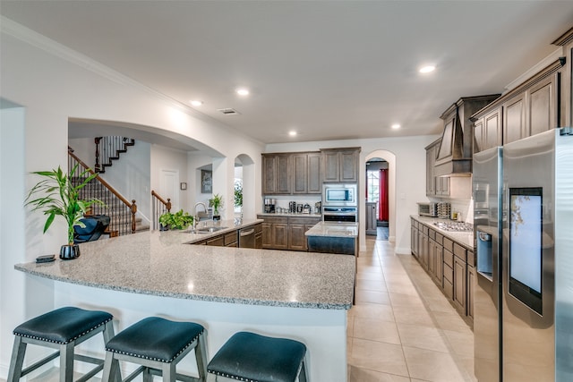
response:
<svg viewBox="0 0 573 382"><path fill-rule="evenodd" d="M560 58L516 88L472 115L475 122L474 152L558 127L560 115Z"/></svg>

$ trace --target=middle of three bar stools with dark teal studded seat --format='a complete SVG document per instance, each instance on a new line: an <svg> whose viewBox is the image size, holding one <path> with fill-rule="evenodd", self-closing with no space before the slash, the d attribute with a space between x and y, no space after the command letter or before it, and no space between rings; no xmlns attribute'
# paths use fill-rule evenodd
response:
<svg viewBox="0 0 573 382"><path fill-rule="evenodd" d="M111 377L121 380L118 361L141 365L125 380L132 380L143 373L143 381L152 380L152 374L163 375L163 380L201 381L207 376L207 351L205 329L193 322L175 322L165 318L150 317L124 329L106 344L106 362L102 381ZM199 378L178 374L175 366L188 352L195 349Z"/></svg>

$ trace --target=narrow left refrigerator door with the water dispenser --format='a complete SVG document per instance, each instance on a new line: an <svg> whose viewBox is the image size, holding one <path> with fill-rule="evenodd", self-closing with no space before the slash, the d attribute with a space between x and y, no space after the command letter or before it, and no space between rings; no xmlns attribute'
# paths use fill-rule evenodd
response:
<svg viewBox="0 0 573 382"><path fill-rule="evenodd" d="M487 149L474 155L473 164L474 369L483 382L500 381L502 159L502 148Z"/></svg>

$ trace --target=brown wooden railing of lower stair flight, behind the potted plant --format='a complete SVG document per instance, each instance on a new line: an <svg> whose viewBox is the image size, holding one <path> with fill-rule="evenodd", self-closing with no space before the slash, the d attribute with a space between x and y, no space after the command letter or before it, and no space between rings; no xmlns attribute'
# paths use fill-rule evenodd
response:
<svg viewBox="0 0 573 382"><path fill-rule="evenodd" d="M68 168L79 165L81 172L89 170L90 174L95 174L79 157L73 154L73 149L68 148ZM89 176L88 174L84 175ZM72 179L74 182L74 179ZM131 202L124 198L109 183L101 179L99 175L80 191L81 198L97 198L104 202L105 206L94 204L91 206L90 215L107 215L110 223L107 231L111 236L135 233L135 214L137 205L135 199Z"/></svg>

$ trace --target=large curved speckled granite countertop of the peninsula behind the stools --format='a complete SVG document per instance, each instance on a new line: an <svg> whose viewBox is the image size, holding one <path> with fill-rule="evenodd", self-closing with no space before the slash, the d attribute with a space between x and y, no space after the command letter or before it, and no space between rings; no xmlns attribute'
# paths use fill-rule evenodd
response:
<svg viewBox="0 0 573 382"><path fill-rule="evenodd" d="M78 259L14 267L52 280L127 293L292 308L352 306L352 257L186 244L196 235L207 237L178 231L133 233L82 243Z"/></svg>

